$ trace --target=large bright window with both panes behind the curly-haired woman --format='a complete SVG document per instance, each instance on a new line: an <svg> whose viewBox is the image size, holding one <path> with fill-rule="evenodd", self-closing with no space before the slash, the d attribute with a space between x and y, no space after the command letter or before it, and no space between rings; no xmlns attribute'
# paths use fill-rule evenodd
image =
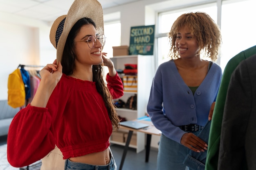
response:
<svg viewBox="0 0 256 170"><path fill-rule="evenodd" d="M222 45L218 64L224 71L227 62L240 51L256 45L254 28L256 26L253 16L255 0L222 0L221 10L216 3L193 5L183 9L173 9L158 14L156 34L156 57L157 66L162 62L170 60L168 57L170 44L167 34L173 22L182 13L202 11L211 16L216 23L220 23L222 33ZM220 21L217 20L218 12L221 13Z"/></svg>

